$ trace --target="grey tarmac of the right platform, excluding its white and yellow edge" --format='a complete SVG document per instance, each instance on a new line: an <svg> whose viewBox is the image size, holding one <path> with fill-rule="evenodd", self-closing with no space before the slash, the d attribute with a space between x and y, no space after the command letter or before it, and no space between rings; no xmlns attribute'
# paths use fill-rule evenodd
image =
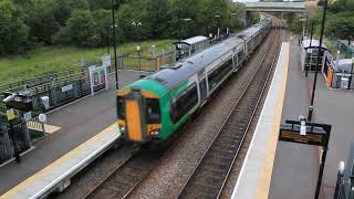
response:
<svg viewBox="0 0 354 199"><path fill-rule="evenodd" d="M314 74L309 77L301 72L300 46L298 39L292 40L288 84L282 113L285 119L298 121L300 115L308 116ZM333 198L337 167L346 161L350 143L354 140L353 91L331 90L325 78L319 73L313 122L332 125L329 153L322 181L320 198ZM320 151L316 146L278 142L270 199L313 198L320 168Z"/></svg>

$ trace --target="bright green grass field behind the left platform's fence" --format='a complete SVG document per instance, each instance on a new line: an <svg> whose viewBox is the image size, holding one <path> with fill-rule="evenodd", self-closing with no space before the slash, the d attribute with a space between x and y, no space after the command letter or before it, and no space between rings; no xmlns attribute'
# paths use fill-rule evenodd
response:
<svg viewBox="0 0 354 199"><path fill-rule="evenodd" d="M156 45L156 52L167 51L171 48L173 40L142 42L142 56L152 56L152 45ZM118 53L137 55L136 43L125 43L118 46ZM111 54L113 49L111 48ZM80 67L81 59L86 63L96 63L107 48L79 49L71 46L41 46L29 51L27 54L0 57L0 84L29 78L38 75L75 70Z"/></svg>

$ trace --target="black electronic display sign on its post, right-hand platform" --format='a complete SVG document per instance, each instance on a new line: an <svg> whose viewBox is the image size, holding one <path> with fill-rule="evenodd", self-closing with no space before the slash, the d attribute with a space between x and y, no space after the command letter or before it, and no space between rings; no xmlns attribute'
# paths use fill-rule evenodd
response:
<svg viewBox="0 0 354 199"><path fill-rule="evenodd" d="M301 129L303 128L303 124L299 121L287 121L285 125L280 126L279 140L322 147L321 165L314 196L315 199L319 199L332 126L316 123L306 123L305 125L305 134L300 134L301 130L303 132Z"/></svg>

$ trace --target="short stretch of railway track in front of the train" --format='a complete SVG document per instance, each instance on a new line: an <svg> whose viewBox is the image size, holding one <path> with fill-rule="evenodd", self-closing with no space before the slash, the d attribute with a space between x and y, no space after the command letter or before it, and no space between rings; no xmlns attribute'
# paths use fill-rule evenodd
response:
<svg viewBox="0 0 354 199"><path fill-rule="evenodd" d="M162 151L140 148L128 156L111 175L96 185L84 198L126 198L146 177L163 156Z"/></svg>

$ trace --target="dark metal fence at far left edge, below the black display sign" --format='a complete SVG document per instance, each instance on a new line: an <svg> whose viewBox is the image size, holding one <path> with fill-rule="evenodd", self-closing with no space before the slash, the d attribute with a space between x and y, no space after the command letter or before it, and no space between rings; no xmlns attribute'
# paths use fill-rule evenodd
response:
<svg viewBox="0 0 354 199"><path fill-rule="evenodd" d="M0 122L0 164L11 159L14 155L13 146L17 145L20 153L31 148L30 134L24 119L14 122L14 136L17 142L11 138L9 125Z"/></svg>

